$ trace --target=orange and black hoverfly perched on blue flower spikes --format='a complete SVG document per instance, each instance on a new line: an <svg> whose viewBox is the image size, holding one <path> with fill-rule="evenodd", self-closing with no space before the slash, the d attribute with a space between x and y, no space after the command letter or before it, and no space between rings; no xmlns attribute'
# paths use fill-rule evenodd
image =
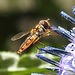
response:
<svg viewBox="0 0 75 75"><path fill-rule="evenodd" d="M15 41L30 33L27 39L25 39L25 41L20 46L18 53L21 53L26 50L32 43L34 44L35 42L37 42L42 36L58 35L53 32L53 29L51 28L50 23L48 21L50 21L50 19L40 20L39 24L35 25L35 27L31 29L31 31L27 33L18 33L11 38L12 41Z"/></svg>

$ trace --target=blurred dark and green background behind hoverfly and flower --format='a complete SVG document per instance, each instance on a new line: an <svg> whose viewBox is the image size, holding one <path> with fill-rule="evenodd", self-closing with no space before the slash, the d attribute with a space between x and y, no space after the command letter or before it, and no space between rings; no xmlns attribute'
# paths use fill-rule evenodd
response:
<svg viewBox="0 0 75 75"><path fill-rule="evenodd" d="M51 25L70 30L75 25L64 19L60 12L63 10L75 17L72 14L73 6L75 6L75 0L0 0L0 73L4 75L30 75L32 72L47 72L48 70L44 68L40 70L38 68L45 62L35 57L37 49L34 45L31 45L21 55L17 54L19 46L27 36L15 42L11 41L11 37L21 31L28 32L41 19L47 18L50 18ZM58 48L63 48L62 45L69 43L61 36L42 37L39 41L47 46ZM43 47L38 42L36 45ZM57 57L51 58L56 60ZM17 69L14 64L22 68ZM13 65L13 69L9 68Z"/></svg>

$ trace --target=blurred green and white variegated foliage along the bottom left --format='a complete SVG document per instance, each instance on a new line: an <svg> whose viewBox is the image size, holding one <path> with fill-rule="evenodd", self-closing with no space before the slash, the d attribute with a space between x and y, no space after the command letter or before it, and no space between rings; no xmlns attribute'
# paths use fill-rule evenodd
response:
<svg viewBox="0 0 75 75"><path fill-rule="evenodd" d="M8 56L7 56L8 54ZM30 58L32 54L22 55L21 58L18 54L12 52L0 52L0 74L1 75L30 75L31 73L50 73L42 65L47 63L37 59ZM36 55L36 53L35 53ZM47 56L49 57L49 56ZM15 64L17 62L17 64Z"/></svg>

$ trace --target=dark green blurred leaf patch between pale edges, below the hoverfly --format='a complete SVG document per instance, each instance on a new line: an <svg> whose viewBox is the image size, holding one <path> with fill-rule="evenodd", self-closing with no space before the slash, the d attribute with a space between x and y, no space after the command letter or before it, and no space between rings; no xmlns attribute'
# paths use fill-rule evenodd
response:
<svg viewBox="0 0 75 75"><path fill-rule="evenodd" d="M20 61L18 63L18 67L33 68L33 67L38 67L41 64L42 63L41 63L40 60L37 60L36 58L35 59L32 59L29 56L26 57L26 55L23 55L20 58Z"/></svg>

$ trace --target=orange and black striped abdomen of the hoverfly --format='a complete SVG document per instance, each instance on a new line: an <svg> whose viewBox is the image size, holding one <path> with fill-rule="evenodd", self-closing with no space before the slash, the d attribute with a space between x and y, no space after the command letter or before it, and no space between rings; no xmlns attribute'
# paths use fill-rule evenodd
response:
<svg viewBox="0 0 75 75"><path fill-rule="evenodd" d="M22 51L26 50L36 39L36 35L27 37L27 39L20 46L18 53L21 53Z"/></svg>

